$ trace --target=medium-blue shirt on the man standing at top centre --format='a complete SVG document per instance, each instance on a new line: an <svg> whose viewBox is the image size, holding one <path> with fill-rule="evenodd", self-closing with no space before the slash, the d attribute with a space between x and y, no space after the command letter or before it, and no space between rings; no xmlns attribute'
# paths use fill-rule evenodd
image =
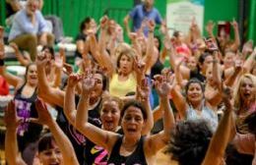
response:
<svg viewBox="0 0 256 165"><path fill-rule="evenodd" d="M137 31L142 22L147 20L153 20L156 24L161 24L160 12L156 8L152 8L151 11L147 11L144 5L137 5L129 14L130 18L133 20L133 30ZM148 27L145 27L144 33L147 35L149 31Z"/></svg>

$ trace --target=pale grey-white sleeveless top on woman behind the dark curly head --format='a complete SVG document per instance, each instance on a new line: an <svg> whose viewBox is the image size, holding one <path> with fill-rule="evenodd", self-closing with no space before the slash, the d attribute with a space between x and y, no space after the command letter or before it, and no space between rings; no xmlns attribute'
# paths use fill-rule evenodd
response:
<svg viewBox="0 0 256 165"><path fill-rule="evenodd" d="M218 115L211 110L208 106L205 105L205 101L203 102L202 112L201 114L197 114L196 110L189 105L189 108L186 111L186 120L198 120L204 119L209 122L212 130L215 132L218 127Z"/></svg>

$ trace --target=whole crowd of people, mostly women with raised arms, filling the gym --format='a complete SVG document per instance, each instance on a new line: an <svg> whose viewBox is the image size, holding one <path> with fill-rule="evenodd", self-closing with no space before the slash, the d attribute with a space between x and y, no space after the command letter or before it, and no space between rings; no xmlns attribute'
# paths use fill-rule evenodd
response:
<svg viewBox="0 0 256 165"><path fill-rule="evenodd" d="M180 165L256 165L256 48L240 42L235 21L234 39L216 36L213 22L205 39L195 20L170 35L154 0L133 9L125 29L89 17L75 72L65 50L54 51L39 2L13 16L9 35L24 78L6 70L0 27L0 78L15 88L4 117L8 164L152 165L163 151Z"/></svg>

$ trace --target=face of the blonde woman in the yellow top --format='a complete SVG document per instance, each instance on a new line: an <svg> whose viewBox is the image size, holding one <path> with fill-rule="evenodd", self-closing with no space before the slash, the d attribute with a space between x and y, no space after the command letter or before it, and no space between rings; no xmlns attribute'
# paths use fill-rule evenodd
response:
<svg viewBox="0 0 256 165"><path fill-rule="evenodd" d="M122 74L129 75L133 70L133 60L127 55L122 55L119 61L119 69Z"/></svg>

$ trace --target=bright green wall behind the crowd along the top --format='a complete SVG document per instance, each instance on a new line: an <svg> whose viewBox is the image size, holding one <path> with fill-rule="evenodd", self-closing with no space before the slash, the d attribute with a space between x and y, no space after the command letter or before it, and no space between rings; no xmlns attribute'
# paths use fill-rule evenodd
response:
<svg viewBox="0 0 256 165"><path fill-rule="evenodd" d="M0 24L5 20L5 0L0 0ZM155 6L162 17L165 17L166 0L155 0ZM124 16L133 7L133 0L44 0L43 14L54 14L63 21L65 34L76 36L80 22L87 16L99 18L108 16L122 25ZM250 0L248 19L248 38L256 40L255 29L256 0ZM205 0L205 24L209 20L231 21L238 18L238 0Z"/></svg>

